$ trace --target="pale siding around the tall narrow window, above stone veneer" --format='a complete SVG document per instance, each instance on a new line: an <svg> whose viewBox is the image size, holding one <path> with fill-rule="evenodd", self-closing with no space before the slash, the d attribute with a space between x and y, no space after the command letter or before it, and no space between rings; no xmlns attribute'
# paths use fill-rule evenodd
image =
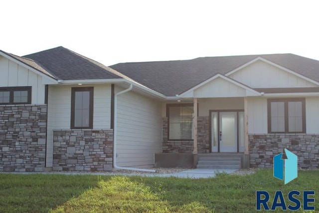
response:
<svg viewBox="0 0 319 213"><path fill-rule="evenodd" d="M94 87L93 129L110 129L111 126L111 84L49 85L48 87L48 129L47 167L52 167L53 130L71 128L71 88Z"/></svg>

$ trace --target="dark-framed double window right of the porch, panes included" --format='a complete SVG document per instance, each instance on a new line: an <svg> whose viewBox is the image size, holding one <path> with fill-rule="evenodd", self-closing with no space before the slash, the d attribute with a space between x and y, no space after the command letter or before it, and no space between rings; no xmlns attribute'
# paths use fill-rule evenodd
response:
<svg viewBox="0 0 319 213"><path fill-rule="evenodd" d="M268 133L306 133L305 99L268 99Z"/></svg>

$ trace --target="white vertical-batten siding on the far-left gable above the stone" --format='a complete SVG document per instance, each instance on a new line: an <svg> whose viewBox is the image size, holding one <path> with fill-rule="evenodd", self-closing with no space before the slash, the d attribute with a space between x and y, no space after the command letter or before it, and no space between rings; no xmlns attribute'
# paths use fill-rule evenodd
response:
<svg viewBox="0 0 319 213"><path fill-rule="evenodd" d="M31 104L44 104L45 85L42 76L0 56L0 87L32 86Z"/></svg>

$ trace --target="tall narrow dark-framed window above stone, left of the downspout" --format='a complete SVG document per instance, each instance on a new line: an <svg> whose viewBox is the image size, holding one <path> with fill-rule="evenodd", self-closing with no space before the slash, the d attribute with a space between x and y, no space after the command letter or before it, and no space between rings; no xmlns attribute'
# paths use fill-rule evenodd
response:
<svg viewBox="0 0 319 213"><path fill-rule="evenodd" d="M71 89L71 129L93 129L93 87Z"/></svg>

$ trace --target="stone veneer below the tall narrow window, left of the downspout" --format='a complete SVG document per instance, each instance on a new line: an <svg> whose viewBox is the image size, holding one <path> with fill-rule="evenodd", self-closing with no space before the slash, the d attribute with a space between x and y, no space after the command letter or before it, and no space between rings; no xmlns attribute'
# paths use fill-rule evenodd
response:
<svg viewBox="0 0 319 213"><path fill-rule="evenodd" d="M53 130L54 171L111 171L113 130Z"/></svg>

